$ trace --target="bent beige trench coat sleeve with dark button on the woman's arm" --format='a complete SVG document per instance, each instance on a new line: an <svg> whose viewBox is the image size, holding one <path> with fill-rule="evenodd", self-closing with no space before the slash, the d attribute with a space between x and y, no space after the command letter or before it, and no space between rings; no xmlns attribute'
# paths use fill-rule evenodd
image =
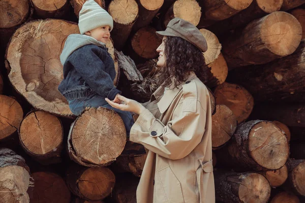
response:
<svg viewBox="0 0 305 203"><path fill-rule="evenodd" d="M131 129L130 141L169 159L186 157L201 142L205 131L206 110L202 103L185 98L166 125L145 109Z"/></svg>

